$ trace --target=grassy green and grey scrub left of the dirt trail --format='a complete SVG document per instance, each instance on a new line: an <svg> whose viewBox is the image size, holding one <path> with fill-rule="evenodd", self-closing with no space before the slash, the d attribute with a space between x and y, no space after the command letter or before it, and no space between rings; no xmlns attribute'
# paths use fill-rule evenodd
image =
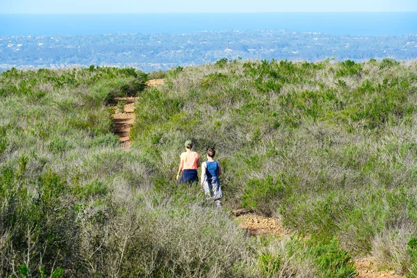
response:
<svg viewBox="0 0 417 278"><path fill-rule="evenodd" d="M0 74L1 277L259 277L256 243L229 212L120 149L106 104L146 80L108 67Z"/></svg>

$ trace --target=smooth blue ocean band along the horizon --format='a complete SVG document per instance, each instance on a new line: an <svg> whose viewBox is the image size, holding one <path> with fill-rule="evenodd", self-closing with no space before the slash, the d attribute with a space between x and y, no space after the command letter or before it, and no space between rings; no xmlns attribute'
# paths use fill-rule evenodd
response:
<svg viewBox="0 0 417 278"><path fill-rule="evenodd" d="M417 33L417 12L0 14L0 36L281 29L335 35L407 35Z"/></svg>

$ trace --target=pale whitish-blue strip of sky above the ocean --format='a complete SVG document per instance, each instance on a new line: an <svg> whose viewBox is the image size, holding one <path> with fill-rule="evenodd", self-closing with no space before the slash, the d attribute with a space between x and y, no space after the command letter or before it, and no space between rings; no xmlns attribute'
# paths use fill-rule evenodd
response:
<svg viewBox="0 0 417 278"><path fill-rule="evenodd" d="M0 14L411 11L417 0L0 0Z"/></svg>

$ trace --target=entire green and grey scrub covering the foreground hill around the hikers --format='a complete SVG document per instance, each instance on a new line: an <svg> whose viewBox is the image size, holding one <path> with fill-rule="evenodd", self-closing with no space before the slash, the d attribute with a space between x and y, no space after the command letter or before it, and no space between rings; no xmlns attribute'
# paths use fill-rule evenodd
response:
<svg viewBox="0 0 417 278"><path fill-rule="evenodd" d="M147 78L0 74L1 277L352 277L368 254L415 277L417 63L222 59ZM125 152L106 105L137 94ZM173 181L190 138L218 150L222 209ZM241 206L298 236L246 236Z"/></svg>

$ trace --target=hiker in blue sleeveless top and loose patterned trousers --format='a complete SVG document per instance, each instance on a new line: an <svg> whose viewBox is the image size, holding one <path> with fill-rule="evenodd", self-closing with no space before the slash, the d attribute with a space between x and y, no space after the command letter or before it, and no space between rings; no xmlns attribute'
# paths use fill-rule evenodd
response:
<svg viewBox="0 0 417 278"><path fill-rule="evenodd" d="M209 199L214 199L216 206L220 207L220 198L222 197L222 189L220 188L219 176L222 174L220 163L214 160L215 150L210 148L207 150L207 161L202 163L202 186L204 193Z"/></svg>

